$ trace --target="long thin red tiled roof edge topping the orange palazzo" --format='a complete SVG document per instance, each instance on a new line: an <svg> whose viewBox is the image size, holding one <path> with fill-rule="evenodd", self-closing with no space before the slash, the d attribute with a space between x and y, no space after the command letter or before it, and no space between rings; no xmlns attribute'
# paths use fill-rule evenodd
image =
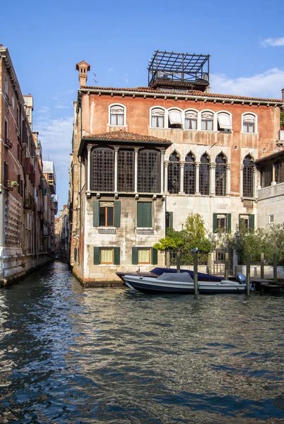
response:
<svg viewBox="0 0 284 424"><path fill-rule="evenodd" d="M155 90L155 88L151 87L136 87L136 88L119 88L119 87L96 87L96 86L83 86L81 87L85 90L96 90L96 91L125 91L131 93L153 93L160 95L182 95L184 97L187 96L199 96L203 98L223 98L223 99L232 99L232 100L254 100L259 102L277 102L283 103L283 100L280 99L266 99L266 98L252 98L243 95L232 95L232 94L218 94L218 93L203 93L203 91L199 90L188 90L188 92L183 91L167 91L167 90Z"/></svg>

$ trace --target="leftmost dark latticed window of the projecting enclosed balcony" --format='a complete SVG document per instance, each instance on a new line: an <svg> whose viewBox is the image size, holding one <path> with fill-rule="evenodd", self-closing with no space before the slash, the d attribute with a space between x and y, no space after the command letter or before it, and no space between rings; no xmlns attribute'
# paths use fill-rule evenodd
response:
<svg viewBox="0 0 284 424"><path fill-rule="evenodd" d="M113 192L114 151L112 148L95 148L91 153L91 190Z"/></svg>

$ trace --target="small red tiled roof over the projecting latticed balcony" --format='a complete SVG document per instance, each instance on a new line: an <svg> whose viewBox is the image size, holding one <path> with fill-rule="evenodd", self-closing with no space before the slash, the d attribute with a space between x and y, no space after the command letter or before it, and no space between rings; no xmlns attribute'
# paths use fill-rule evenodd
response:
<svg viewBox="0 0 284 424"><path fill-rule="evenodd" d="M167 139L160 139L154 136L145 136L143 134L136 134L120 129L119 131L110 131L102 134L90 134L83 136L83 139L92 139L98 141L138 141L143 143L172 143Z"/></svg>

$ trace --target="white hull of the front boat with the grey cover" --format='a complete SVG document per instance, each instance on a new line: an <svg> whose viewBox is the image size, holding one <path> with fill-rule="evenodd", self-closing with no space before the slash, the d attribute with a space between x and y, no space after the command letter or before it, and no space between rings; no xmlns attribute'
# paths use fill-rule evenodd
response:
<svg viewBox="0 0 284 424"><path fill-rule="evenodd" d="M177 281L159 281L157 278L147 278L143 276L124 276L126 285L142 293L177 293L194 294L194 283ZM200 294L220 294L220 293L244 293L246 285L234 283L232 281L199 281L198 290Z"/></svg>

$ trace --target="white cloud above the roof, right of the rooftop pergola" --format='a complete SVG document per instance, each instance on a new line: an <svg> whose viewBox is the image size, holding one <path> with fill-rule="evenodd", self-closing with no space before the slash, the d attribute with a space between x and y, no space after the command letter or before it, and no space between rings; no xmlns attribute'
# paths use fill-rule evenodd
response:
<svg viewBox="0 0 284 424"><path fill-rule="evenodd" d="M273 68L264 73L239 78L230 78L224 73L211 74L210 85L212 93L280 99L284 87L284 70Z"/></svg>

